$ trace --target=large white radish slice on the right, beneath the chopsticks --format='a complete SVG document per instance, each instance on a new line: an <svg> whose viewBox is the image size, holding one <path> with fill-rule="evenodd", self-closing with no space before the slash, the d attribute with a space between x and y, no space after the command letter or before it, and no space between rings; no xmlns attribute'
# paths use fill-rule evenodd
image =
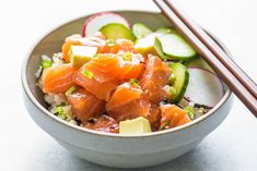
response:
<svg viewBox="0 0 257 171"><path fill-rule="evenodd" d="M224 94L220 78L205 69L190 68L188 72L189 83L185 98L195 103L214 107Z"/></svg>

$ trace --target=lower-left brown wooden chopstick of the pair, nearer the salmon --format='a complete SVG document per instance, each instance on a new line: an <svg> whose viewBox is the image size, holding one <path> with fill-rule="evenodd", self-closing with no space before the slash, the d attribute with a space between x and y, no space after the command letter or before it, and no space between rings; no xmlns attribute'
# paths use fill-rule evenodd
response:
<svg viewBox="0 0 257 171"><path fill-rule="evenodd" d="M245 103L245 106L252 111L252 113L255 117L257 117L257 99L256 99L256 96L254 96L254 94L252 94L252 91L249 90L249 89L254 89L254 91L256 90L255 87L252 87L253 84L247 84L247 86L250 87L250 88L247 88L247 86L243 84L240 81L240 78L237 78L232 73L232 71L224 63L220 61L220 59L215 56L215 53L211 51L208 48L208 46L201 41L200 38L197 37L197 35L190 29L190 27L188 27L185 24L185 22L175 13L175 11L171 10L168 4L173 3L172 1L170 1L168 4L166 3L165 0L154 0L154 2L162 10L162 12L167 16L167 19L170 19L171 22L173 22L174 26L184 35L184 37L194 46L194 48L210 64L210 66L215 71L215 73L226 83L230 89L240 98L240 100L243 103ZM187 23L189 23L189 21L187 21ZM195 32L198 29L196 29ZM212 46L212 44L210 44L210 46ZM213 48L215 48L215 46ZM222 58L229 58L229 57L222 56ZM242 74L237 74L237 76L241 76L241 75ZM248 81L244 78L241 78L241 80L243 80L244 82Z"/></svg>

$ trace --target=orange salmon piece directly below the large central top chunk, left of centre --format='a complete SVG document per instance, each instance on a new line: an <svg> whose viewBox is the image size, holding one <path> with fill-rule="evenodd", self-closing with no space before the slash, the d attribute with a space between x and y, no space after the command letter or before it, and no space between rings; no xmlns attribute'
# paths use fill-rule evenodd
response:
<svg viewBox="0 0 257 171"><path fill-rule="evenodd" d="M84 87L87 91L97 98L106 101L109 100L112 93L119 84L117 81L100 83L94 77L89 78L83 75L81 70L74 73L74 83Z"/></svg>

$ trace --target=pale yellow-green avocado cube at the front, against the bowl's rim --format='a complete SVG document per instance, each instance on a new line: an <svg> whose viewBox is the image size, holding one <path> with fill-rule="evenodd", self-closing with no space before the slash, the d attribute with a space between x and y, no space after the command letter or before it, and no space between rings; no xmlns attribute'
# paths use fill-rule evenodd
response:
<svg viewBox="0 0 257 171"><path fill-rule="evenodd" d="M119 122L119 134L135 135L142 133L151 133L150 123L143 117Z"/></svg>

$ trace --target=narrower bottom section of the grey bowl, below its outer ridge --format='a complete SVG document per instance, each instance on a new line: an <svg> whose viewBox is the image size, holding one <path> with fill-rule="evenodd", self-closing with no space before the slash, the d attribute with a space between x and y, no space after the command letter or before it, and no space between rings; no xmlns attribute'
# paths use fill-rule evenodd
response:
<svg viewBox="0 0 257 171"><path fill-rule="evenodd" d="M154 155L151 154L140 154L140 155L120 155L120 154L104 154L101 151L93 151L84 148L79 148L69 145L68 143L57 141L61 146L67 148L74 156L85 159L90 162L113 167L113 168L144 168L144 167L153 167L157 166L173 159L176 159L186 152L194 149L200 142L192 142L185 146L180 146L177 148L168 149L165 151L159 151Z"/></svg>

